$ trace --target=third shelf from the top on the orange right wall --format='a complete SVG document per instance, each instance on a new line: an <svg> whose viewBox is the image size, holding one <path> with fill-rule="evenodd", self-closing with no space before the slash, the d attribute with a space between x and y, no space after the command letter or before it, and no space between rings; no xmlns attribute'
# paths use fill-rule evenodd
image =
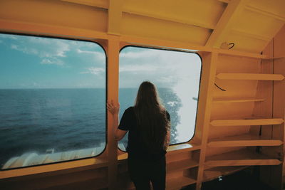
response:
<svg viewBox="0 0 285 190"><path fill-rule="evenodd" d="M254 120L212 120L212 126L247 126L247 125L280 125L284 122L281 118L254 119Z"/></svg>

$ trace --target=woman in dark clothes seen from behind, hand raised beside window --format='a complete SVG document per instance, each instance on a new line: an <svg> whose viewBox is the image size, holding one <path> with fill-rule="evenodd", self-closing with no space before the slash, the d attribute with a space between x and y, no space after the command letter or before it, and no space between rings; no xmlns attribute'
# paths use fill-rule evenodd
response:
<svg viewBox="0 0 285 190"><path fill-rule="evenodd" d="M140 85L135 106L125 110L120 125L120 105L108 102L113 115L115 139L128 137L128 171L137 190L165 189L165 153L170 141L170 115L160 102L157 89L145 81Z"/></svg>

